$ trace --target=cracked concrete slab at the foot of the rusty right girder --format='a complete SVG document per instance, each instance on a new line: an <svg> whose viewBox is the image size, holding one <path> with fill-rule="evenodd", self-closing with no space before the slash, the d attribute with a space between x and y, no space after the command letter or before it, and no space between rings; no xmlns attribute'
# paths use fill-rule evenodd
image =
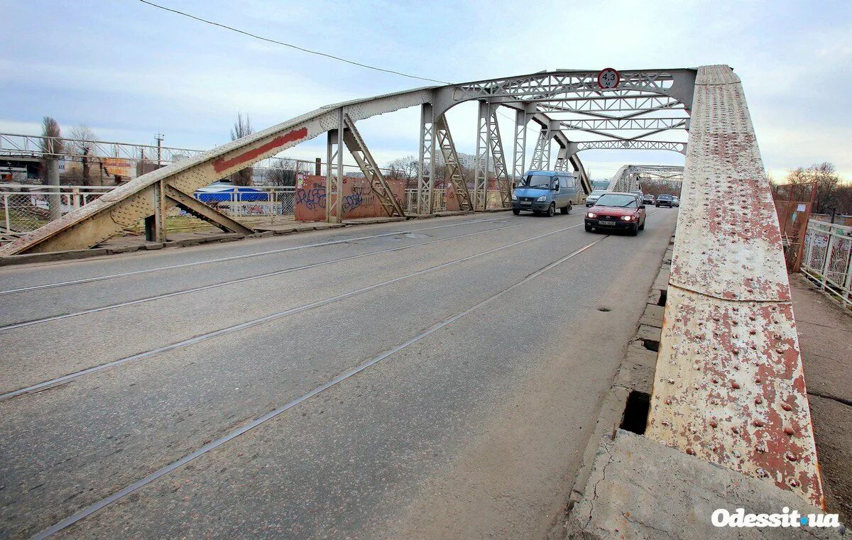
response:
<svg viewBox="0 0 852 540"><path fill-rule="evenodd" d="M604 437L583 490L567 522L567 537L609 538L843 538L843 527L717 527L718 508L734 513L821 514L792 491L619 429Z"/></svg>

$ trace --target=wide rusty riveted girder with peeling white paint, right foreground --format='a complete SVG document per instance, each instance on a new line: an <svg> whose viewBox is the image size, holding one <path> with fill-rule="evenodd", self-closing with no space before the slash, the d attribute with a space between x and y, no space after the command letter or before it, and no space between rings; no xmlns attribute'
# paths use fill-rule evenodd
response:
<svg viewBox="0 0 852 540"><path fill-rule="evenodd" d="M778 220L728 66L699 68L681 200L646 435L822 505Z"/></svg>

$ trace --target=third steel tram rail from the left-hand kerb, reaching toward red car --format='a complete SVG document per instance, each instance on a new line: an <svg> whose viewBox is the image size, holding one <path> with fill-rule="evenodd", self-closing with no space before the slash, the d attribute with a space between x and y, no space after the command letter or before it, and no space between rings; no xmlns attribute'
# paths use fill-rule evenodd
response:
<svg viewBox="0 0 852 540"><path fill-rule="evenodd" d="M571 225L569 227L562 227L560 229L556 229L555 231L550 231L550 233L539 234L538 236L533 236L532 238L517 240L517 241L512 242L510 244L502 245L498 248L492 248L491 250L481 251L480 253L465 256L465 257L462 257L460 259L456 259L454 261L444 262L444 263L441 263L441 264L436 265L434 267L424 268L423 270L418 270L417 272L409 273L409 274L406 274L404 276L400 276L399 278L388 279L387 281L382 281L382 282L377 283L377 284L371 284L371 285L368 285L366 287L362 287L360 289L350 290L349 292L343 293L341 295L330 296L328 298L325 298L323 300L319 300L317 302L311 302L309 304L303 304L302 306L291 307L289 309L285 309L284 311L279 311L278 313L271 313L269 315L265 315L265 316L257 318L257 319L251 319L249 321L246 321L245 323L240 323L239 325L227 326L226 328L222 328L222 329L219 329L219 330L213 330L211 332L206 332L206 333L201 334L199 336L195 336L195 337L191 337L191 338L188 338L188 339L185 339L185 340L181 340L180 342L170 343L169 345L164 345L163 347L153 348L151 350L148 350L148 351L145 351L145 352L142 352L142 353L136 353L136 354L133 354L131 356L127 356L123 359L113 360L112 362L107 362L106 364L95 365L93 367L86 368L85 370L75 371L74 373L69 373L68 375L65 375L65 376L56 377L55 379L51 379L49 381L39 382L37 384L33 384L32 386L28 386L26 388L19 388L17 390L13 390L13 391L7 392L5 394L0 394L0 400L14 398L14 397L19 396L21 394L30 394L30 393L32 393L36 390L41 390L42 388L54 386L55 384L60 384L61 382L72 381L73 379L76 379L76 378L83 376L83 375L89 375L90 373L96 373L98 371L107 370L107 369L115 367L117 365L127 364L128 362L134 362L134 361L137 361L137 360L151 358L151 357L156 356L160 353L167 353L169 351L174 351L174 350L179 349L179 348L188 347L188 346L194 345L196 343L205 342L205 341L212 339L214 337L225 336L227 334L231 334L231 333L237 332L239 330L245 330L247 328L251 328L251 327L256 326L256 325L262 325L264 323L268 323L268 322L273 321L273 320L282 319L284 317L288 317L288 316L294 315L296 313L302 313L303 311L308 311L308 309L313 309L314 307L325 306L327 304L331 304L332 302L338 302L338 301L344 300L346 298L349 298L350 296L360 295L360 294L363 294L363 293L368 292L370 290L375 290L375 289L378 289L380 287L383 287L383 286L386 286L386 285L389 285L389 284L397 283L399 281L402 281L403 279L415 278L415 277L421 276L425 273L434 272L435 270L440 270L442 268L450 267L454 264L458 264L459 262L470 261L471 259L475 259L476 257L488 255L488 254L494 253L496 251L507 250L511 247L514 247L515 245L525 244L527 242L532 242L533 240L538 240L538 238L544 238L546 236L550 236L551 234L562 233L564 231L567 231L568 229L573 229L574 227L580 227L581 225L583 225L583 223L577 223L576 225Z"/></svg>

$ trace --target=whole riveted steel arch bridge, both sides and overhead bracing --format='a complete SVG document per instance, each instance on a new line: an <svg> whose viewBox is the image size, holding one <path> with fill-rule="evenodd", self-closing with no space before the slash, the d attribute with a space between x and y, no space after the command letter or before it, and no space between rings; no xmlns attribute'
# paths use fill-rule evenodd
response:
<svg viewBox="0 0 852 540"><path fill-rule="evenodd" d="M582 150L682 152L682 209L646 436L767 479L820 505L822 487L780 228L740 78L728 66L636 70L622 72L618 87L603 89L596 77L592 71L539 72L320 107L142 175L7 244L0 256L89 248L141 219L162 235L169 207L204 211L192 197L195 189L324 134L327 192L343 191L345 145L379 198L387 201L385 208L401 215L356 123L411 106L421 111L420 214L432 212L437 152L452 169L451 181L464 207L485 210L492 163L507 204L510 180L527 164L525 127L530 121L541 127L532 168L550 168L550 147L556 141L555 168L570 165L586 192L590 183L577 155ZM466 101L479 102L472 194L446 123L446 112ZM510 161L498 128L500 106L515 111ZM688 131L688 143L654 138L672 129ZM639 135L621 135L625 130ZM598 139L580 141L579 133ZM341 198L335 206L327 210L330 221L342 217ZM213 211L204 217L224 228L242 227Z"/></svg>

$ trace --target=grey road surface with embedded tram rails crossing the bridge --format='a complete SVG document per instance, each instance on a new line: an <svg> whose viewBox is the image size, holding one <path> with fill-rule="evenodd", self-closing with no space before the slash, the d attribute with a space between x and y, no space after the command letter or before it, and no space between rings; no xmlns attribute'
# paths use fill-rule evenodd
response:
<svg viewBox="0 0 852 540"><path fill-rule="evenodd" d="M543 537L676 212L0 269L0 537Z"/></svg>

